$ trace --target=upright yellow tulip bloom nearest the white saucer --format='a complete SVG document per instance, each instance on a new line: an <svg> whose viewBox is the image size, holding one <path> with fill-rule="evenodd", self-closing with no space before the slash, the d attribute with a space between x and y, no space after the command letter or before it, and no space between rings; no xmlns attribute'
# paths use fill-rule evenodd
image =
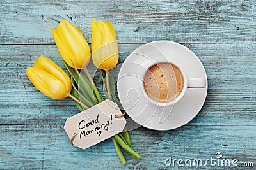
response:
<svg viewBox="0 0 256 170"><path fill-rule="evenodd" d="M118 45L113 25L99 20L91 21L92 29L92 60L95 67L109 70L118 62Z"/></svg>

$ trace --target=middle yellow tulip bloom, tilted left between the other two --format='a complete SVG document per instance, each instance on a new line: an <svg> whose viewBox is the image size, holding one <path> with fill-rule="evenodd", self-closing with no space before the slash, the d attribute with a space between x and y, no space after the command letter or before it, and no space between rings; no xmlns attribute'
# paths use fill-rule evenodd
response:
<svg viewBox="0 0 256 170"><path fill-rule="evenodd" d="M90 47L80 29L67 20L61 20L56 30L51 28L51 32L60 55L68 66L74 68L72 61L77 69L89 64Z"/></svg>

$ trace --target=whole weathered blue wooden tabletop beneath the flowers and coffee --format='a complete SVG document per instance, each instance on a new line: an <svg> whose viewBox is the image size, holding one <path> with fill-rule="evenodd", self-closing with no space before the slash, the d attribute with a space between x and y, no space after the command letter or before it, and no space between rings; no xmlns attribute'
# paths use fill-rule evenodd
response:
<svg viewBox="0 0 256 170"><path fill-rule="evenodd" d="M216 152L255 169L256 1L2 0L0 9L0 169L228 169L164 164L169 157L216 159ZM142 159L125 153L125 166L111 139L87 150L71 146L63 125L79 113L76 105L45 97L25 73L39 55L65 69L49 28L68 20L90 42L92 18L114 25L120 62L145 41L171 40L193 50L208 76L207 99L191 122L130 132Z"/></svg>

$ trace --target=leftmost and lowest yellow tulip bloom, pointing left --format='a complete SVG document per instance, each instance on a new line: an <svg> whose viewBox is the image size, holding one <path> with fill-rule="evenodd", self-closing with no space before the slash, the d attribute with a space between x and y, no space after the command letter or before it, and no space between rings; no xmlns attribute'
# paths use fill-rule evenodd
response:
<svg viewBox="0 0 256 170"><path fill-rule="evenodd" d="M72 90L69 76L45 56L40 56L26 74L40 92L52 99L64 99Z"/></svg>

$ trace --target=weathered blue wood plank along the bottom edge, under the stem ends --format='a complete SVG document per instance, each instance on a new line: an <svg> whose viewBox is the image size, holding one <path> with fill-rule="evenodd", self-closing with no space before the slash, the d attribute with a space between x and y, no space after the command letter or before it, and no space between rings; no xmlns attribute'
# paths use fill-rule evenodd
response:
<svg viewBox="0 0 256 170"><path fill-rule="evenodd" d="M134 150L142 159L132 159L125 153L127 165L123 167L111 139L82 150L70 145L62 125L0 125L0 166L1 169L166 169L164 160L169 156L205 160L216 159L216 152L221 152L223 159L255 165L255 131L256 126L185 125L173 131L140 128L130 134Z"/></svg>

